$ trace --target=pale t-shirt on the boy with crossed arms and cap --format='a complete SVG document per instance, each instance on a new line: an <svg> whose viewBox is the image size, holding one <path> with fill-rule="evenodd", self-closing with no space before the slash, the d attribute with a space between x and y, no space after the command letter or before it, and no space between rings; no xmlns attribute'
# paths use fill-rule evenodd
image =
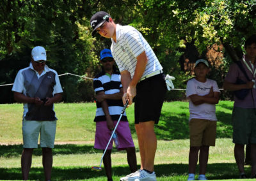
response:
<svg viewBox="0 0 256 181"><path fill-rule="evenodd" d="M192 78L187 83L186 96L197 94L198 96L205 96L209 94L210 89L213 92L220 92L219 87L215 80L208 79L206 82L199 82L195 78ZM191 119L207 119L207 120L217 120L215 105L209 103L203 103L201 105L194 105L191 99L189 99L189 120Z"/></svg>

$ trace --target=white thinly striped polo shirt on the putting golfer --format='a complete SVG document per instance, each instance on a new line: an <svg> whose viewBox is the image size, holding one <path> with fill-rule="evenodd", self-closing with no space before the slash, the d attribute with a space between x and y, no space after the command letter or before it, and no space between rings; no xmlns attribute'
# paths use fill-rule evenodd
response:
<svg viewBox="0 0 256 181"><path fill-rule="evenodd" d="M134 27L116 24L116 43L113 39L111 41L111 53L120 72L129 71L131 78L134 76L137 57L144 51L148 57L148 62L141 78L163 69L148 42Z"/></svg>

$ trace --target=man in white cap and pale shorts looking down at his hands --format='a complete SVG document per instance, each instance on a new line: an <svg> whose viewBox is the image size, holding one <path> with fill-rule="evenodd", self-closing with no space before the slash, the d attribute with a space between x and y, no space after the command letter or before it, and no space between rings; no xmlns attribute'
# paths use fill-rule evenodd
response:
<svg viewBox="0 0 256 181"><path fill-rule="evenodd" d="M44 47L34 47L28 68L20 69L13 84L14 99L24 103L22 120L22 179L28 180L33 149L40 134L45 180L51 180L52 148L56 133L54 105L61 100L62 88L58 73L45 65Z"/></svg>

